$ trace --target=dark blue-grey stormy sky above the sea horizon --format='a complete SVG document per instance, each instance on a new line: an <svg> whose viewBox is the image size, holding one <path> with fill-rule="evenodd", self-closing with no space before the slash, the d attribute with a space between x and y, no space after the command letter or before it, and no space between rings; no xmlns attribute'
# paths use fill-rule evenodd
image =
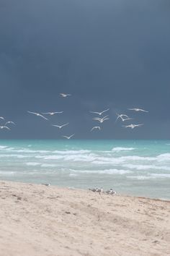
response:
<svg viewBox="0 0 170 256"><path fill-rule="evenodd" d="M170 139L169 28L169 0L1 0L0 116L17 126L0 139ZM106 108L89 132L89 111ZM115 113L144 125L125 129Z"/></svg>

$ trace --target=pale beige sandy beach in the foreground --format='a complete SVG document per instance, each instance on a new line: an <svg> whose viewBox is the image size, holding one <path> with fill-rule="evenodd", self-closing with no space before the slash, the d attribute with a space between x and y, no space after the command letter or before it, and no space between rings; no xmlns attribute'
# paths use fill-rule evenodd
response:
<svg viewBox="0 0 170 256"><path fill-rule="evenodd" d="M170 202L0 182L0 255L170 255Z"/></svg>

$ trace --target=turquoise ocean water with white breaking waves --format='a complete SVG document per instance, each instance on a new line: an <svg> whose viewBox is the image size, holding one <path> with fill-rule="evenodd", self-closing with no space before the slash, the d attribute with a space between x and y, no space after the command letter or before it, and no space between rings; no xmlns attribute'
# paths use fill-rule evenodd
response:
<svg viewBox="0 0 170 256"><path fill-rule="evenodd" d="M1 140L0 179L170 199L170 141Z"/></svg>

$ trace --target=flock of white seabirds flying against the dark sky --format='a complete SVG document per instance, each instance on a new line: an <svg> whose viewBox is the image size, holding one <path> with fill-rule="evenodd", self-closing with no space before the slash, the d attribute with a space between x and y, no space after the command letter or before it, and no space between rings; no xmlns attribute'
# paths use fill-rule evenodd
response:
<svg viewBox="0 0 170 256"><path fill-rule="evenodd" d="M65 93L60 93L61 97L63 98L67 98L69 96L71 96L71 94L65 94ZM128 108L128 110L130 111L135 111L135 112L147 112L146 110L142 109L142 108ZM104 113L106 113L107 111L109 111L109 108L107 108L106 110L102 111L102 112L97 112L97 111L89 111L91 114L96 114L98 115L97 117L94 117L93 120L94 121L98 121L99 124L102 124L104 121L108 120L109 119L109 115L106 115L106 116L103 116ZM63 111L55 111L55 112L42 112L42 113L37 113L37 112L32 112L32 111L27 111L27 113L29 114L34 114L35 116L40 116L42 119L45 119L46 121L48 120L48 118L46 116L54 116L55 114L62 114ZM132 120L133 118L130 118L127 114L117 114L117 120L121 120L121 121L128 121L128 120ZM4 117L0 116L0 119L1 120L4 120ZM14 121L6 121L5 124L3 126L0 126L0 129L9 129L10 128L7 126L7 124L14 124ZM66 127L69 123L66 123L66 124L61 124L61 125L58 125L58 124L52 124L53 127L57 127L58 129L62 129L63 127ZM125 127L125 128L131 128L131 129L134 129L135 127L140 127L142 126L143 124L128 124L128 125L122 125L122 127ZM94 126L91 128L91 132L94 131L94 129L98 129L98 130L101 130L101 127L98 125L98 126ZM66 135L63 135L63 137L65 137L66 139L71 139L71 137L73 137L75 134L73 135L70 135L70 136L66 136Z"/></svg>

